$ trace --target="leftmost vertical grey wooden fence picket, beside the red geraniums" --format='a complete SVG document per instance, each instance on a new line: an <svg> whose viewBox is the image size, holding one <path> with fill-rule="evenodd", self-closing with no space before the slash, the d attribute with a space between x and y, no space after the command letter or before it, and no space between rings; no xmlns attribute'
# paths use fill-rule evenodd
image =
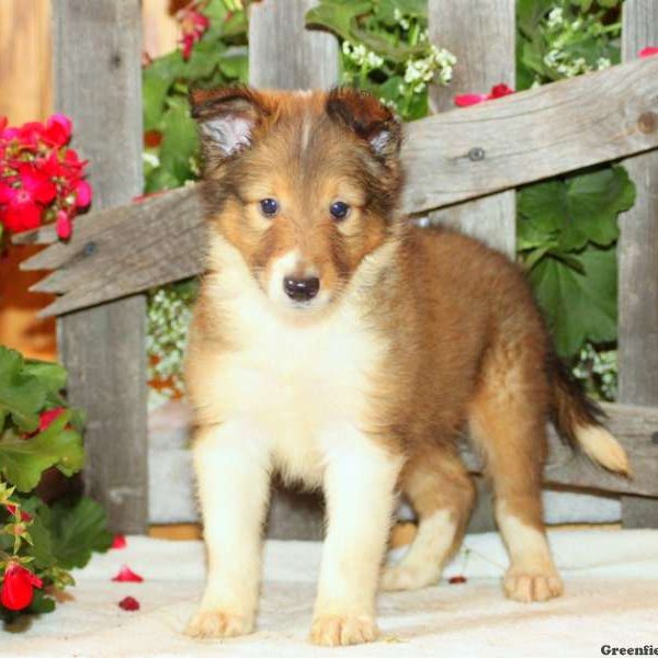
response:
<svg viewBox="0 0 658 658"><path fill-rule="evenodd" d="M94 207L126 203L141 190L139 0L55 0L53 12L55 104L90 160ZM69 400L88 413L86 487L131 533L148 522L145 325L143 296L58 324Z"/></svg>

